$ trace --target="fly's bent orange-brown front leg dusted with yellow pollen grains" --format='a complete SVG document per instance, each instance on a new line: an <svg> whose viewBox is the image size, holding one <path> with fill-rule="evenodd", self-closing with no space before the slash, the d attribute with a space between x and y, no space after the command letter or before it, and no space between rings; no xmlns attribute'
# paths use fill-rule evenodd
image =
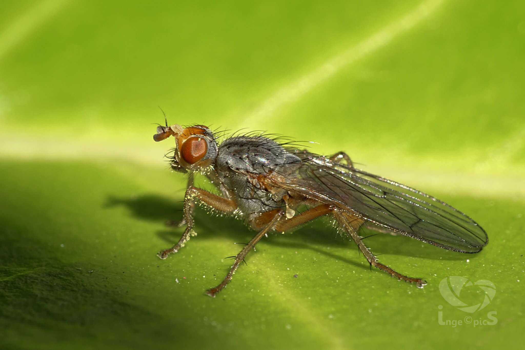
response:
<svg viewBox="0 0 525 350"><path fill-rule="evenodd" d="M186 224L186 229L184 234L182 234L181 239L178 240L177 244L173 247L163 250L157 254L161 259L166 259L170 253L176 253L179 249L184 247L184 244L190 240L190 236L195 232L193 231L193 207L194 200L200 200L202 203L206 204L209 207L212 207L223 213L232 213L237 208L237 205L234 200L227 199L221 196L214 195L209 193L206 190L194 186L189 186L186 189L186 195L184 196L184 223Z"/></svg>

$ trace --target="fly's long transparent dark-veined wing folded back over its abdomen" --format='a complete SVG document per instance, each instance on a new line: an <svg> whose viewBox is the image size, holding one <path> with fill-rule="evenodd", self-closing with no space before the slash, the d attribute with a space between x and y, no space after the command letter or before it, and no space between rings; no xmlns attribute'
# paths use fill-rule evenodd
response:
<svg viewBox="0 0 525 350"><path fill-rule="evenodd" d="M269 176L272 185L337 205L363 219L435 246L475 253L488 237L474 220L416 189L324 156L306 156Z"/></svg>

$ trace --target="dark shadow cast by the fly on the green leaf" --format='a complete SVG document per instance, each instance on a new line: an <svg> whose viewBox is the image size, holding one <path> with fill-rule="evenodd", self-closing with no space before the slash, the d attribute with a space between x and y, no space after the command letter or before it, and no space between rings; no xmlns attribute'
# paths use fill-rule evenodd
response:
<svg viewBox="0 0 525 350"><path fill-rule="evenodd" d="M177 202L158 195L143 195L131 198L110 196L104 207L109 208L115 206L128 208L131 211L131 215L135 218L162 221L164 225L170 220L176 221L182 217L182 201ZM233 217L209 215L204 209L198 206L195 208L194 228L198 234L202 234L199 235L199 239L209 239L213 237L217 228L220 228L221 233L226 232L232 239L232 242L248 242L251 237L254 236L253 231L244 225L242 221L236 220ZM159 249L169 248L173 245L181 237L182 231L182 228L167 228L167 225L165 229L157 231L156 235L166 241L166 247L159 247ZM376 231L367 228L362 229L360 232L362 237L375 234L377 234ZM307 226L294 231L293 234L276 236L275 239L269 239L265 242L269 245L280 247L307 248L363 268L360 262L355 262L318 248L318 246L348 246L351 249L356 249L351 239L338 234L326 218L312 221ZM479 256L479 254L465 254L446 250L402 235L393 236L380 233L379 235L366 238L364 243L374 254L393 254L433 260L466 260Z"/></svg>

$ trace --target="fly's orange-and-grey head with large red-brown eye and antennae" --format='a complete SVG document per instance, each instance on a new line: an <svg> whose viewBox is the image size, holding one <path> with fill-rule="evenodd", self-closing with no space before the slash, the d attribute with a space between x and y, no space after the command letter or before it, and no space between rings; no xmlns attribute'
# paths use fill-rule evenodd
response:
<svg viewBox="0 0 525 350"><path fill-rule="evenodd" d="M185 173L187 170L203 171L210 165L215 165L218 146L211 130L204 125L193 125L183 128L181 125L157 127L153 135L156 142L173 136L175 138L174 156L171 167L173 170Z"/></svg>

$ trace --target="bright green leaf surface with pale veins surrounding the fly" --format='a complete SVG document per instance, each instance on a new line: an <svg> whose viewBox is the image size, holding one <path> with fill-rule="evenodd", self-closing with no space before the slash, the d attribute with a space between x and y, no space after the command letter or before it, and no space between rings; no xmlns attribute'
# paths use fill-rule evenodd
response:
<svg viewBox="0 0 525 350"><path fill-rule="evenodd" d="M519 1L0 2L0 347L493 348L515 345L525 283L525 6ZM262 240L196 215L154 143L162 123L267 130L345 150L486 229L479 254L379 235L419 290L370 271L318 221ZM202 183L202 181L198 181ZM468 259L468 260L467 260ZM298 277L294 278L293 275ZM490 280L467 314L439 282ZM178 281L178 282L177 282ZM481 299L480 299L481 298ZM461 299L484 298L474 287ZM439 306L442 306L442 309ZM487 319L496 325L439 325Z"/></svg>

